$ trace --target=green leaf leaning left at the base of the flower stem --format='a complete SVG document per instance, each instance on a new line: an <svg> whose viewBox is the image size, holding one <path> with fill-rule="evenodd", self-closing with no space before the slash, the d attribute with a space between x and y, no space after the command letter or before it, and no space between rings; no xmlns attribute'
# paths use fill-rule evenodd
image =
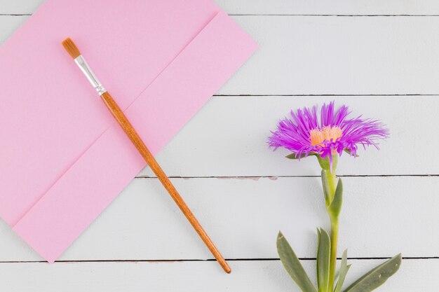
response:
<svg viewBox="0 0 439 292"><path fill-rule="evenodd" d="M297 258L295 252L292 250L281 231L279 231L276 246L283 267L285 267L285 270L287 270L288 274L290 274L290 277L296 282L300 290L303 292L317 292L316 287L314 287L306 274L299 258Z"/></svg>

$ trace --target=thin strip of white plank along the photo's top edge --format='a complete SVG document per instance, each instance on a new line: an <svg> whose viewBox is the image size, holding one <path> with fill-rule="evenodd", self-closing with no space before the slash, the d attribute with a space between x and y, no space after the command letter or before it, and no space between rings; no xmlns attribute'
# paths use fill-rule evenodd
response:
<svg viewBox="0 0 439 292"><path fill-rule="evenodd" d="M0 0L0 14L29 14L44 0ZM438 15L435 0L215 0L230 14L306 15Z"/></svg>

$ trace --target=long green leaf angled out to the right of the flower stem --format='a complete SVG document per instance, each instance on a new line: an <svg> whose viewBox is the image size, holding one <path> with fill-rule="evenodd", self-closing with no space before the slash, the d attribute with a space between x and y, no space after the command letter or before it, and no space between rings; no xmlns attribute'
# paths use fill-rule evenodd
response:
<svg viewBox="0 0 439 292"><path fill-rule="evenodd" d="M367 274L355 281L344 292L370 292L378 288L398 271L401 260L401 254L394 256L385 263L367 272Z"/></svg>

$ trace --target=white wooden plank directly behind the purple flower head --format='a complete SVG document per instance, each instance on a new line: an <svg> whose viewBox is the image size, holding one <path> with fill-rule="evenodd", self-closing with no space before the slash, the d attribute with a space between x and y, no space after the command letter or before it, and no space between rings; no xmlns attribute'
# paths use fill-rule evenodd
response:
<svg viewBox="0 0 439 292"><path fill-rule="evenodd" d="M320 175L315 158L292 161L289 152L269 150L266 139L290 109L335 100L352 116L377 118L391 130L380 151L342 155L344 175L438 174L438 97L214 97L158 154L172 176ZM433 132L432 132L433 131ZM152 176L149 169L140 175Z"/></svg>

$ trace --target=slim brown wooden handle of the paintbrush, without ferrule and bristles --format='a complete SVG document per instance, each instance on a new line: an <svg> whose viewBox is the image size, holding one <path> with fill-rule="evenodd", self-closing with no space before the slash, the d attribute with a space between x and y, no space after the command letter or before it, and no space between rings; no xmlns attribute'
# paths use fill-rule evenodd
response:
<svg viewBox="0 0 439 292"><path fill-rule="evenodd" d="M215 256L219 265L221 265L225 272L230 273L231 269L226 260L224 260L221 253L219 253L215 244L209 238L208 234L204 231L203 227L201 227L201 224L198 222L198 220L196 220L194 214L192 214L189 207L187 207L187 204L184 202L182 196L177 192L177 190L173 186L173 183L170 182L168 176L166 176L166 174L163 172L160 165L158 165L156 159L151 154L147 146L143 143L142 139L140 139L139 134L137 134L137 132L134 130L133 125L131 125L130 121L128 120L128 118L126 118L123 111L121 111L116 102L114 102L112 96L109 95L108 92L105 92L103 95L101 95L101 98L109 111L114 116L114 118L116 118L119 125L121 125L123 131L126 132L130 140L133 142L135 148L137 148L149 167L151 167L154 174L156 174L157 178L161 181L166 190L168 190L170 196L173 197L174 202L177 204L180 210L182 210L184 216L186 216L187 220L189 220L198 235L201 237L201 239L203 239L205 245L208 246L208 249L210 249L212 255Z"/></svg>

